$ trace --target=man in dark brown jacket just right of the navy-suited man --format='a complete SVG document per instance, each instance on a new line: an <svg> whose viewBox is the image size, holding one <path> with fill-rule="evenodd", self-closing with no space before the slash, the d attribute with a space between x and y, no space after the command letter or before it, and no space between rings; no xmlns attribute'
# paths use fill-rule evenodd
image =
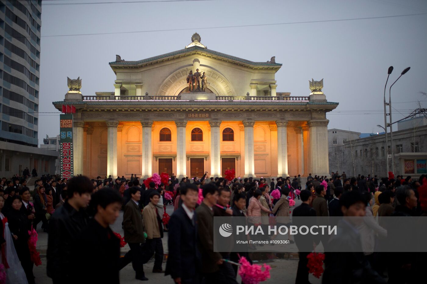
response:
<svg viewBox="0 0 427 284"><path fill-rule="evenodd" d="M219 265L224 261L219 252L213 251L213 206L218 201L218 189L213 184L203 186L203 202L196 209L199 250L202 253L202 273L205 283L226 283Z"/></svg>

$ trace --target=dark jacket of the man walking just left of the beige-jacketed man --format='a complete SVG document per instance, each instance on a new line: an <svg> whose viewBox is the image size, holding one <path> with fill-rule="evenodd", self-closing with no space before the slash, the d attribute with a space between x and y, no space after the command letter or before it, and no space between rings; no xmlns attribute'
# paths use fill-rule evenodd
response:
<svg viewBox="0 0 427 284"><path fill-rule="evenodd" d="M145 243L141 210L132 199L123 209L122 228L126 243Z"/></svg>

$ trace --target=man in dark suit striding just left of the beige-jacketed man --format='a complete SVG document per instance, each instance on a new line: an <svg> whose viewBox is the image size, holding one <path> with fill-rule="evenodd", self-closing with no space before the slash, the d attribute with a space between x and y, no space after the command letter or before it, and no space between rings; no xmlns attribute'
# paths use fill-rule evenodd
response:
<svg viewBox="0 0 427 284"><path fill-rule="evenodd" d="M146 281L143 267L143 253L141 243L145 243L144 224L142 221L139 201L141 199L141 191L138 187L130 188L129 193L131 200L126 203L123 212L122 227L124 231L125 242L129 244L130 251L123 258L120 258L120 269L128 265L132 261L132 267L135 270L135 279Z"/></svg>

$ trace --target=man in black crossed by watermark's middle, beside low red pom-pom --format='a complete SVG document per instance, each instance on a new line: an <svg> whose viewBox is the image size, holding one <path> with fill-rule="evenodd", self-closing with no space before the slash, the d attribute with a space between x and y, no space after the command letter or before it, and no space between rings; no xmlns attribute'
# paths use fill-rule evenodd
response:
<svg viewBox="0 0 427 284"><path fill-rule="evenodd" d="M311 192L309 190L301 190L299 195L301 197L302 204L293 210L292 217L316 217L316 210L310 207L312 200ZM307 222L298 223L298 218L293 218L294 225L307 226ZM316 223L313 218L313 224ZM311 234L307 235L295 235L295 243L298 247L298 270L296 272L295 284L307 284L308 282L308 268L307 268L307 255L313 249L313 243L315 242L314 236Z"/></svg>

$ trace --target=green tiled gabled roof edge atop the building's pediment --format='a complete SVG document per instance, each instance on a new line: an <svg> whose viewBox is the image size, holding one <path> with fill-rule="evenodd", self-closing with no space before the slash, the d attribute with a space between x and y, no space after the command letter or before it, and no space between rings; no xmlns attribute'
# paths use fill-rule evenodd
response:
<svg viewBox="0 0 427 284"><path fill-rule="evenodd" d="M239 62L250 64L250 65L258 65L258 66L282 66L282 64L280 64L280 63L268 63L268 62L254 62L254 61L249 61L249 60L246 60L246 59L243 59L243 58L238 58L238 57L235 57L235 56L232 56L232 55L228 55L228 54L225 54L225 53L217 52L217 51L214 51L214 50L211 50L211 49L207 49L207 48L202 48L202 47L199 47L199 46L192 46L192 47L189 47L187 49L184 48L184 49L180 49L180 50L177 50L177 51L174 51L174 52L169 52L169 53L165 53L165 54L162 54L162 55L157 55L157 56L146 58L146 59L139 60L139 61L113 61L113 62L110 62L109 64L110 65L138 65L138 64L141 64L141 63L155 61L155 60L158 60L158 59L161 59L161 58L166 58L166 57L169 57L169 56L179 55L179 54L191 52L191 51L194 51L194 50L199 50L199 51L202 51L202 52L211 53L213 55L218 55L218 56L221 56L221 57L224 57L224 58L229 58L231 60L239 61Z"/></svg>

